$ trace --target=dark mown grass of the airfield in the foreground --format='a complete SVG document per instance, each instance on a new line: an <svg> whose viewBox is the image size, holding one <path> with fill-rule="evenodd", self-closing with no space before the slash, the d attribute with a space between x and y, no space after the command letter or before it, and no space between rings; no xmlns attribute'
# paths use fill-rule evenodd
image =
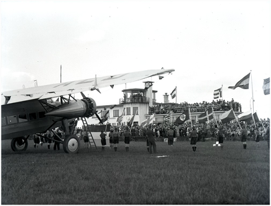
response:
<svg viewBox="0 0 271 206"><path fill-rule="evenodd" d="M157 154L145 141L123 141L117 152L84 148L75 155L46 145L12 152L2 141L1 203L37 204L269 204L270 150L267 142L157 141ZM60 146L62 148L62 146ZM157 155L169 155L158 158Z"/></svg>

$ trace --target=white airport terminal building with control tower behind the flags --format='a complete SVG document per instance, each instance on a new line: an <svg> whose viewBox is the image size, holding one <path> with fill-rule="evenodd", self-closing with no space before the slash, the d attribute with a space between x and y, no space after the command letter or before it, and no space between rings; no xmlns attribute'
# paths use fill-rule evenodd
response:
<svg viewBox="0 0 271 206"><path fill-rule="evenodd" d="M123 126L126 126L130 119L134 116L134 124L140 125L145 119L150 117L154 110L152 108L157 108L160 105L167 106L174 106L174 103L169 103L168 97L169 95L165 93L164 102L158 103L156 102L156 93L157 91L152 90L153 82L143 82L145 84L144 89L123 89L123 98L119 99L119 104L110 104L110 105L100 105L97 106L97 113L99 117L103 117L104 115L108 115L107 123L111 124L112 126L120 126L117 122L117 118L121 116L124 110L124 115L121 121ZM174 123L175 120L180 116L182 113L182 108L178 109L175 108L175 113L172 113L172 117L170 118L170 122ZM203 111L204 112L204 111ZM225 111L214 111L215 119L218 121L220 120L220 115ZM241 112L235 111L235 115L239 115ZM200 112L193 112L191 111L191 119L187 120L188 122L198 122L199 115L202 114ZM167 113L155 113L154 115L154 124L162 124L164 122L165 116ZM214 120L213 120L214 121ZM99 124L99 119L93 115L87 119L89 125Z"/></svg>

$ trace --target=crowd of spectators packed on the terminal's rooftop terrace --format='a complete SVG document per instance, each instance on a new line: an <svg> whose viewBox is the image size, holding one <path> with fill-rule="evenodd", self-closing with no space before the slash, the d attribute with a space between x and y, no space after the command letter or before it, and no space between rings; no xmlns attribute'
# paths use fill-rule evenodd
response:
<svg viewBox="0 0 271 206"><path fill-rule="evenodd" d="M213 102L201 102L201 103L193 103L189 104L187 102L182 102L180 104L177 103L165 103L165 104L157 104L154 106L150 106L149 115L153 113L158 114L167 114L169 112L173 113L182 113L186 109L190 108L191 113L196 112L204 112L208 108L213 107L214 111L228 111L233 108L233 111L241 112L241 104L239 102L235 102L235 100L225 101L225 100L213 100Z"/></svg>

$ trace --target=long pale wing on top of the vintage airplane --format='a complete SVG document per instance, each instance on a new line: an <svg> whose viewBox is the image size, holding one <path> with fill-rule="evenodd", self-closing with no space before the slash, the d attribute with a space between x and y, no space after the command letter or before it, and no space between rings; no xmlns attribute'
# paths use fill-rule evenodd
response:
<svg viewBox="0 0 271 206"><path fill-rule="evenodd" d="M155 69L146 71L135 71L131 73L121 73L112 76L100 78L90 78L85 80L75 80L58 84L49 84L40 87L30 87L1 93L1 104L11 104L27 100L43 100L47 98L56 98L60 95L80 93L117 84L136 82L152 76L159 76L165 73L172 73L174 69Z"/></svg>

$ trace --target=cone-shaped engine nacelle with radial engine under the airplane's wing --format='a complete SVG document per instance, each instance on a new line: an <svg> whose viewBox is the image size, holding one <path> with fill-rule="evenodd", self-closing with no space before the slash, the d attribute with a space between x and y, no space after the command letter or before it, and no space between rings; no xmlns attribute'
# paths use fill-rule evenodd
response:
<svg viewBox="0 0 271 206"><path fill-rule="evenodd" d="M96 113L96 102L92 98L82 100L71 100L54 108L46 115L63 117L67 119L77 117L91 117Z"/></svg>

